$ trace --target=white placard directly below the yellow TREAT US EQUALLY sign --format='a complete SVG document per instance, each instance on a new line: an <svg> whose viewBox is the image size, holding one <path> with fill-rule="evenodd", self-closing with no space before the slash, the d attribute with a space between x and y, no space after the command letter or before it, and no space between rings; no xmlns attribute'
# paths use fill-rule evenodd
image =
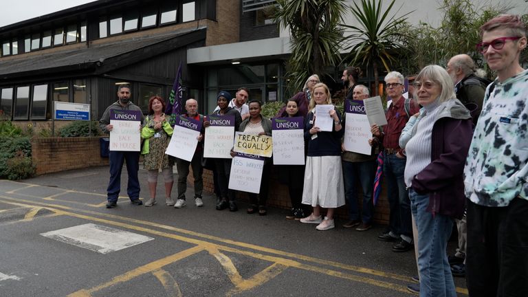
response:
<svg viewBox="0 0 528 297"><path fill-rule="evenodd" d="M259 193L261 190L264 157L236 153L231 162L228 188Z"/></svg>

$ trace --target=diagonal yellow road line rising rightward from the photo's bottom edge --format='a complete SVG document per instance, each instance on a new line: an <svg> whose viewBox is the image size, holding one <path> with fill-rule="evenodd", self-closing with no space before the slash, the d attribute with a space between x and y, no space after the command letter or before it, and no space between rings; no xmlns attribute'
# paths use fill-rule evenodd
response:
<svg viewBox="0 0 528 297"><path fill-rule="evenodd" d="M115 276L115 278L112 278L111 281L108 281L107 283L103 283L101 285L98 285L96 287L92 287L91 289L83 289L78 292L74 292L72 294L69 294L69 297L88 297L91 296L92 293L98 292L102 289L105 289L107 287L111 287L113 285L117 285L118 283L124 283L126 281L130 281L133 278L136 278L137 276L141 276L146 273L155 272L156 270L159 270L159 268L164 267L165 265L168 265L170 263L174 263L176 261L179 261L181 259L184 259L188 256L191 256L193 254L196 254L197 252L201 252L203 250L203 247L200 245L197 245L193 248L188 248L187 250L183 250L177 254L173 254L171 256L166 256L163 259L159 259L157 261L153 261L151 263L148 263L146 265L137 267L134 270L131 270L129 272L126 272L124 274L121 274L120 276Z"/></svg>

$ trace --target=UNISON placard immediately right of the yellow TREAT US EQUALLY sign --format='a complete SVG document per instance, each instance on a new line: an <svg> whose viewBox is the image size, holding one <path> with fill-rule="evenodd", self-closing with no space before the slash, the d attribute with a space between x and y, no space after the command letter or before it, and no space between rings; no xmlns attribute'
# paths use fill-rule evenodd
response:
<svg viewBox="0 0 528 297"><path fill-rule="evenodd" d="M273 164L305 164L304 128L303 117L272 119Z"/></svg>

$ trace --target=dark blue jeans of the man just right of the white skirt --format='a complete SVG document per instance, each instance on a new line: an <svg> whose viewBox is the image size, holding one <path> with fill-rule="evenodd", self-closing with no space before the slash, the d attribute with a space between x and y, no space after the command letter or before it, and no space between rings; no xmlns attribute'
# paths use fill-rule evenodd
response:
<svg viewBox="0 0 528 297"><path fill-rule="evenodd" d="M358 189L355 182L359 179L363 189L362 221L371 223L374 206L372 194L374 189L374 177L376 174L375 160L366 162L343 161L344 197L349 205L349 219L351 221L360 219L358 209Z"/></svg>

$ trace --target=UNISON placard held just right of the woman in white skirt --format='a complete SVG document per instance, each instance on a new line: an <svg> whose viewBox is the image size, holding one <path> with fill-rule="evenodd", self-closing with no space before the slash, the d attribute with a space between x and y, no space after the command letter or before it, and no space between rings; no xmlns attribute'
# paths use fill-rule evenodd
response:
<svg viewBox="0 0 528 297"><path fill-rule="evenodd" d="M343 146L346 151L371 155L372 138L369 118L366 117L365 106L361 100L347 100L344 104L345 125Z"/></svg>

